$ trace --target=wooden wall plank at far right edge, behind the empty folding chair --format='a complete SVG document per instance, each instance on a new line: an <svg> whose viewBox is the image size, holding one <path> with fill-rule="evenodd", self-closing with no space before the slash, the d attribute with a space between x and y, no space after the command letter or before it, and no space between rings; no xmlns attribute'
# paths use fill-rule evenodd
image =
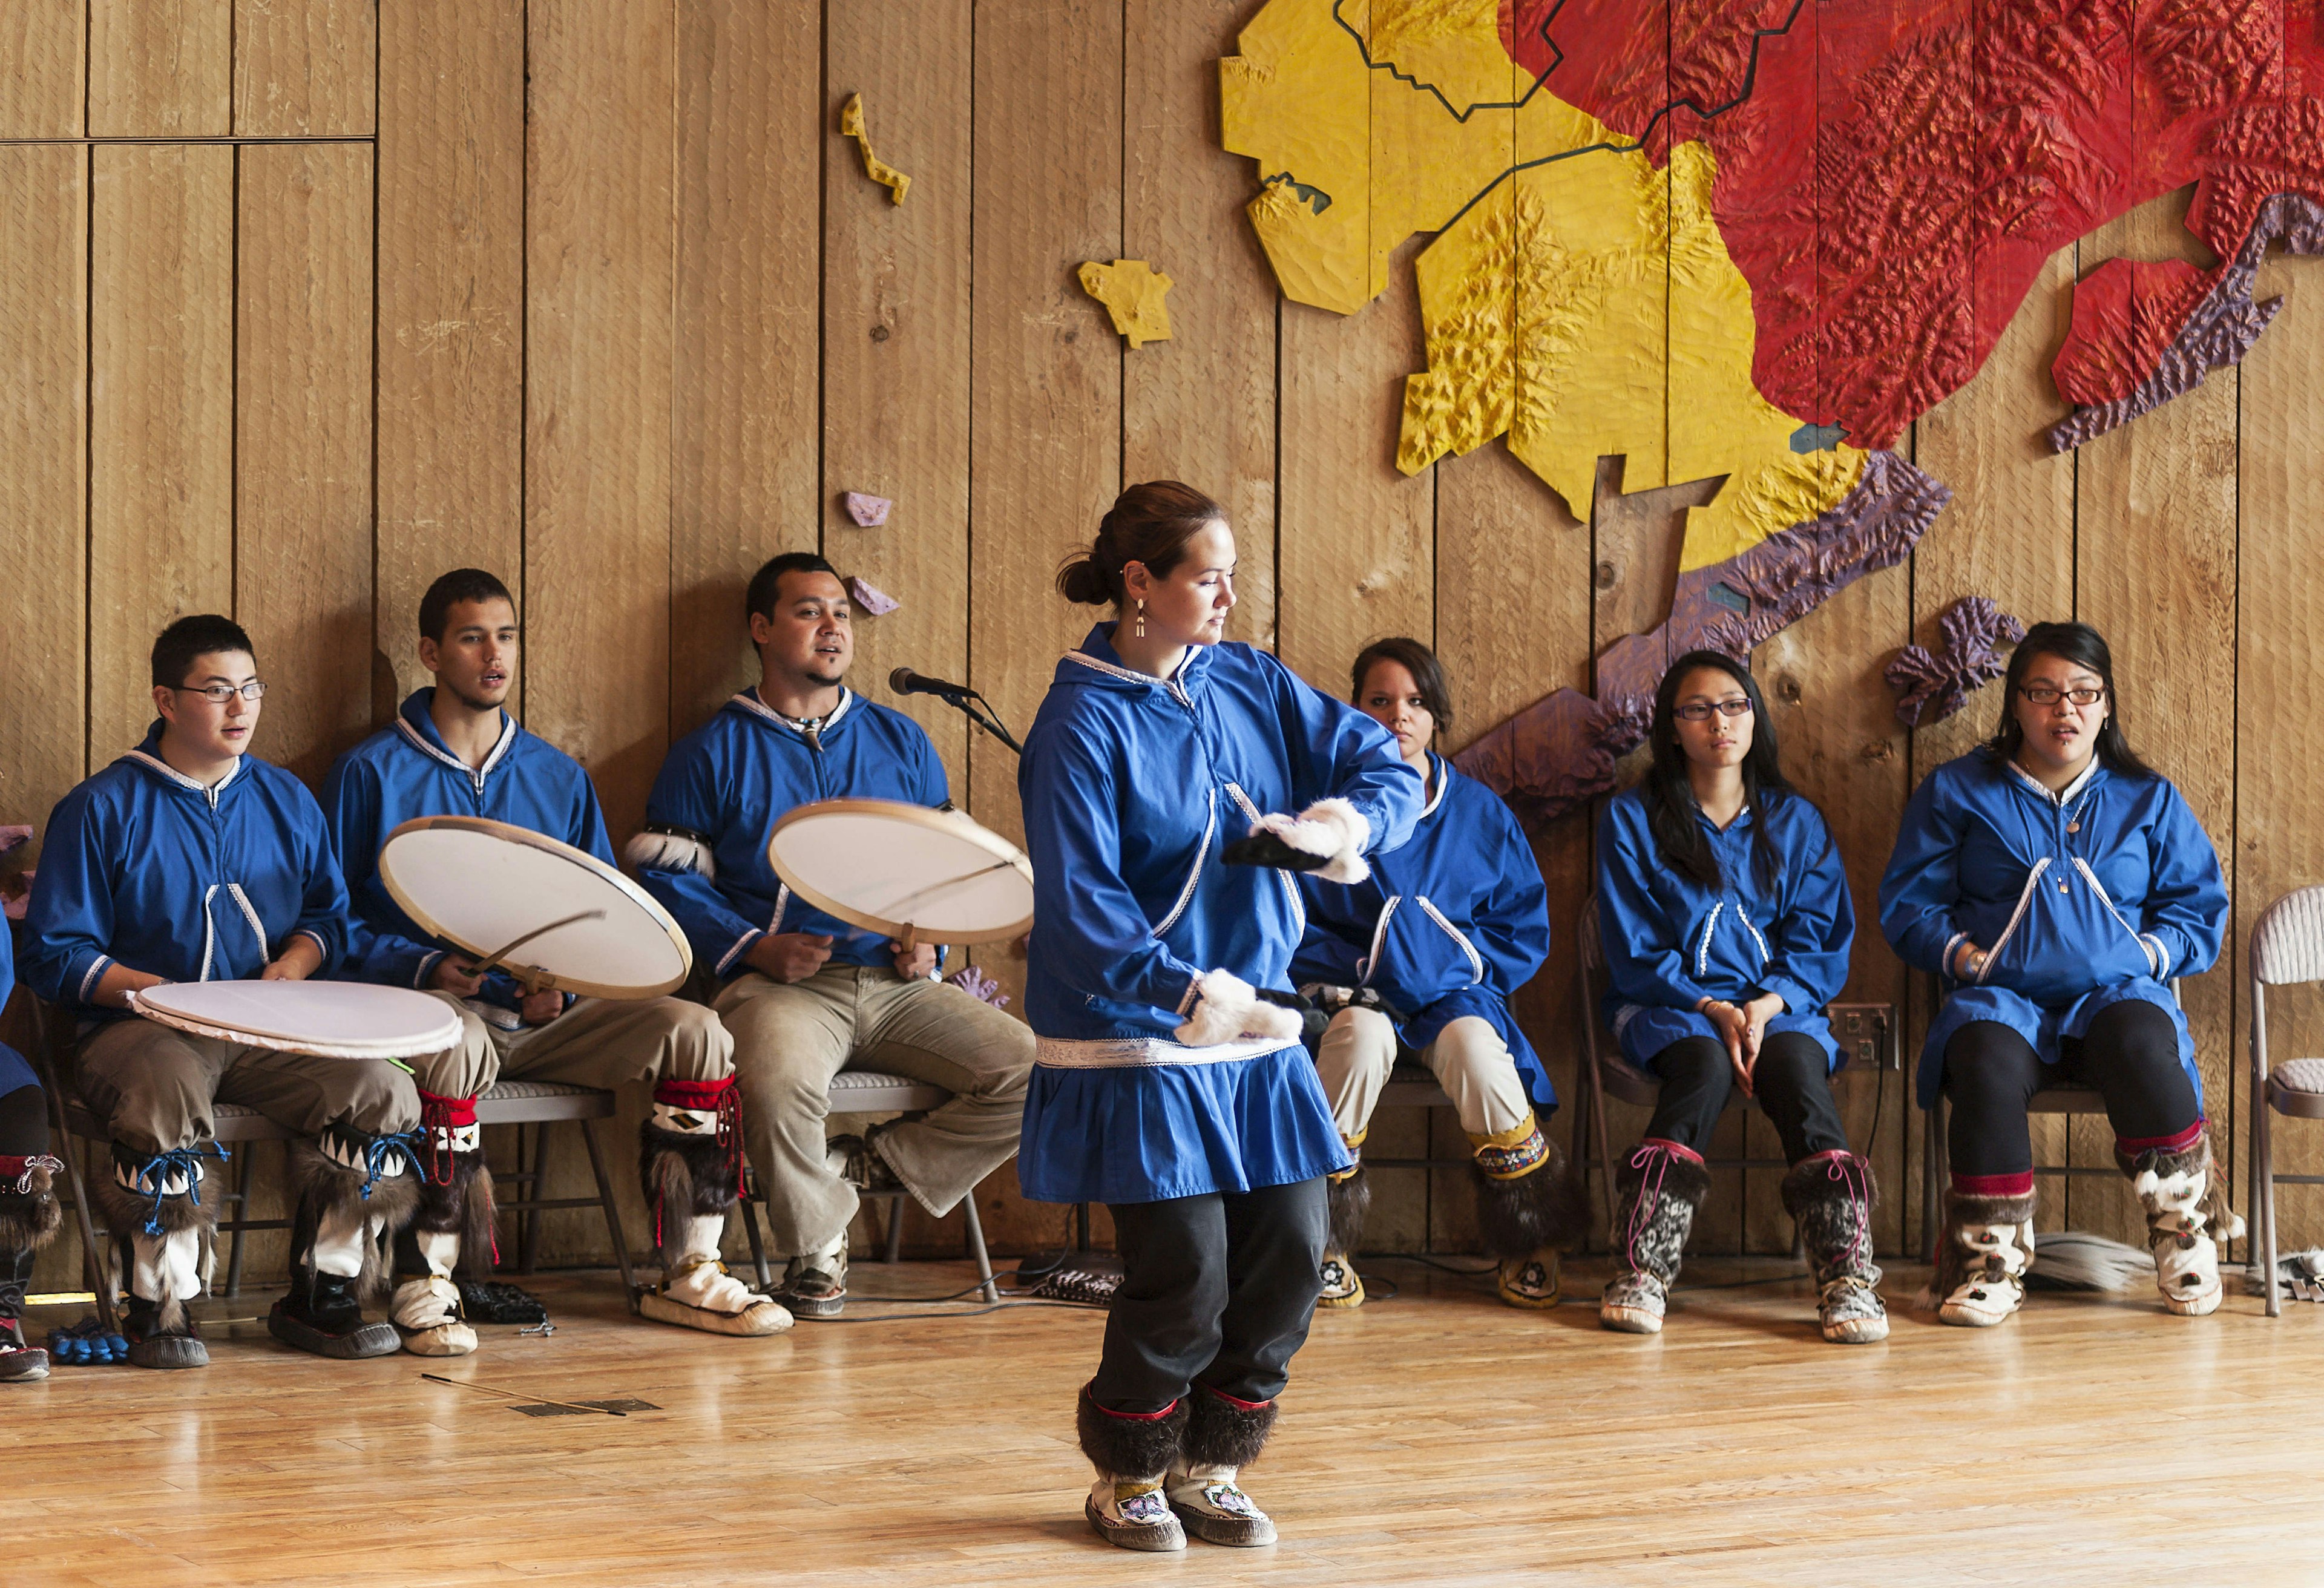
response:
<svg viewBox="0 0 2324 1588"><path fill-rule="evenodd" d="M2250 1114L2259 1097L2245 1081L2250 1032L2250 935L2261 911L2294 888L2324 884L2324 821L2317 821L2312 770L2324 765L2324 723L2305 704L2312 691L2317 535L2324 514L2324 279L2308 260L2261 267L2257 295L2282 295L2268 335L2243 365L2240 518L2236 607L2236 844L2222 842L2236 888L2233 958L2210 974L2233 977L2236 1114L2210 1100L2217 1137L2233 1130L2233 1156L2245 1172ZM2217 377L2215 377L2217 379ZM2268 990L2268 1058L2282 1063L2324 1053L2324 995L2317 988ZM2205 1076L2208 1079L2208 1076ZM2275 1125L2280 1174L2324 1174L2324 1130L2310 1121ZM2222 1149L2229 1142L2217 1139ZM2236 1186L2245 1204L2243 1186ZM2245 1207L2252 1214L2252 1207ZM2315 1246L2324 1228L2324 1186L2282 1186L2275 1193L2278 1249Z"/></svg>

